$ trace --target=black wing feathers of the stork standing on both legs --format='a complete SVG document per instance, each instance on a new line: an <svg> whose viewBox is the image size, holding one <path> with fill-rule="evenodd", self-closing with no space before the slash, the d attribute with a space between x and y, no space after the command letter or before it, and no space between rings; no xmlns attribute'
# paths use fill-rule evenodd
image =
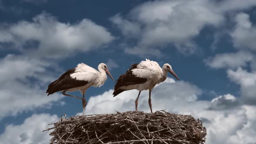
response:
<svg viewBox="0 0 256 144"><path fill-rule="evenodd" d="M142 84L142 83L147 81L147 79L139 78L139 77L136 77L135 75L132 74L131 70L136 69L137 65L138 65L138 63L135 63L135 64L131 65L130 69L128 69L125 72L125 74L120 75L119 78L115 81L116 84L114 86L114 92L113 92L114 97L116 95L120 94L121 92L126 91L126 90L123 90L123 89L118 89L122 86Z"/></svg>

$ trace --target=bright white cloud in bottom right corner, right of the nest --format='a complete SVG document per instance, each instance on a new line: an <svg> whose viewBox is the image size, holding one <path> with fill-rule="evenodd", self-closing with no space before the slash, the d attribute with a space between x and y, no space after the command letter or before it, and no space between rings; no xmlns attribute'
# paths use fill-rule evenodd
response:
<svg viewBox="0 0 256 144"><path fill-rule="evenodd" d="M216 118L207 129L209 144L254 144L255 108L255 106L244 105L235 111L230 110L214 115Z"/></svg>

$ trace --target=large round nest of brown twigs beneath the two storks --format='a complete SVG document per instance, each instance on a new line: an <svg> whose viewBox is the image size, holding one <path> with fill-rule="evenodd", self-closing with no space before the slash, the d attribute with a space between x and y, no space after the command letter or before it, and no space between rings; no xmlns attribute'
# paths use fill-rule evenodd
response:
<svg viewBox="0 0 256 144"><path fill-rule="evenodd" d="M189 115L166 111L117 112L61 118L53 123L51 144L203 144L206 128Z"/></svg>

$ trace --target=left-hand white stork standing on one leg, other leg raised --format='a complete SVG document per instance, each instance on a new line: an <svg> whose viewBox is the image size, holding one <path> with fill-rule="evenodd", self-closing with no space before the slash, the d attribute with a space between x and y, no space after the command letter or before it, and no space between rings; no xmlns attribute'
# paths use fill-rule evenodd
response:
<svg viewBox="0 0 256 144"><path fill-rule="evenodd" d="M85 115L85 91L90 87L101 87L107 79L107 75L112 79L108 67L105 63L98 65L98 71L89 65L79 63L74 69L67 70L56 81L49 84L46 93L51 95L55 92L62 91L62 95L82 99L83 115ZM66 94L66 92L80 91L83 98ZM47 96L48 96L47 95Z"/></svg>

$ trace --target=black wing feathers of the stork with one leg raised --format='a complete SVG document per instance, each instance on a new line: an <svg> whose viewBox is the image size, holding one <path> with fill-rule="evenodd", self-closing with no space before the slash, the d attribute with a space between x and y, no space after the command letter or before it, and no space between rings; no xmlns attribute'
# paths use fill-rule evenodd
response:
<svg viewBox="0 0 256 144"><path fill-rule="evenodd" d="M75 72L75 69L67 70L63 75L59 77L59 79L57 79L56 81L48 85L46 93L48 93L48 95L51 95L55 92L64 91L69 88L84 86L89 83L87 81L72 79L70 77L70 74L74 72Z"/></svg>

